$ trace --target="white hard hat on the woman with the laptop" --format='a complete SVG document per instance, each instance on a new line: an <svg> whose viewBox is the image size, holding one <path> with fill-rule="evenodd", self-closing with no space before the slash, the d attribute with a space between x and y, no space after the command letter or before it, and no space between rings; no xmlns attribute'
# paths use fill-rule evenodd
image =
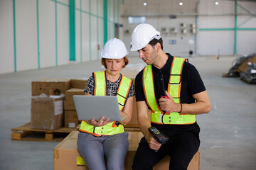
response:
<svg viewBox="0 0 256 170"><path fill-rule="evenodd" d="M105 43L105 46L101 52L102 58L107 59L121 59L128 55L127 48L122 40L113 38Z"/></svg>

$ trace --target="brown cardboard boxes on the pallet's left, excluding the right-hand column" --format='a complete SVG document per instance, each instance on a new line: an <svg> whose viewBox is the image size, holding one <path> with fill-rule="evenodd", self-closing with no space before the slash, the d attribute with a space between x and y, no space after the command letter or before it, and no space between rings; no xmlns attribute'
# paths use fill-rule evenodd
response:
<svg viewBox="0 0 256 170"><path fill-rule="evenodd" d="M31 82L31 129L63 127L63 100L70 79L40 79Z"/></svg>

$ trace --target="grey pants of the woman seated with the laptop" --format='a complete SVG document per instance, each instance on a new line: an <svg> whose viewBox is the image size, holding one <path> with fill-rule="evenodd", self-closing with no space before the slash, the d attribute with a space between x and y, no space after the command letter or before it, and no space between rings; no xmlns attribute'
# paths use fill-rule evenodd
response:
<svg viewBox="0 0 256 170"><path fill-rule="evenodd" d="M129 147L127 132L101 137L79 132L77 144L90 170L124 169L124 158Z"/></svg>

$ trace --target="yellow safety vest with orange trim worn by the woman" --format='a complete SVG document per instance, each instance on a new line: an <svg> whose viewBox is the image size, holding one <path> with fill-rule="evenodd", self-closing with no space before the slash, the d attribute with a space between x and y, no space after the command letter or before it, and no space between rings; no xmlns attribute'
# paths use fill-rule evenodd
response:
<svg viewBox="0 0 256 170"><path fill-rule="evenodd" d="M107 81L106 81L105 75L106 75L105 72L93 73L93 76L95 79L95 91L94 91L95 96L107 95ZM124 105L127 101L127 96L129 94L129 89L131 85L132 85L132 80L122 75L121 81L119 83L119 87L117 89L117 100L119 103L120 111L124 109ZM104 126L95 127L87 124L85 120L82 120L79 131L87 132L97 137L101 135L114 135L114 134L124 132L124 125L122 124L116 125L116 124L117 123L114 121L113 123L108 123L107 125L104 125Z"/></svg>

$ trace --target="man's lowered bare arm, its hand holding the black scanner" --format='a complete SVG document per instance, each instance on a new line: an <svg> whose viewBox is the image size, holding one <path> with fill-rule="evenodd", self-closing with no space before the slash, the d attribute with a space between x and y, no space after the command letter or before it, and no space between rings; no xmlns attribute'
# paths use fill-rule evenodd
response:
<svg viewBox="0 0 256 170"><path fill-rule="evenodd" d="M137 101L137 119L139 123L139 128L142 130L142 133L146 139L146 142L149 144L149 147L154 150L158 150L161 147L161 144L157 142L154 137L149 132L148 128L151 127L151 121L148 116L148 107L145 101Z"/></svg>

